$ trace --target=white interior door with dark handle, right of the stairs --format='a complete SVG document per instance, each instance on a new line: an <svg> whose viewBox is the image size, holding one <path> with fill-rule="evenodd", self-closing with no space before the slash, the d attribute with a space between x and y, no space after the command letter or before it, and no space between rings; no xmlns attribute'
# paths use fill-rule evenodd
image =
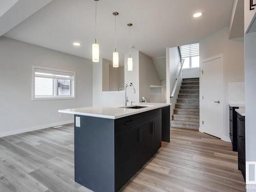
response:
<svg viewBox="0 0 256 192"><path fill-rule="evenodd" d="M224 131L224 77L222 55L205 59L201 73L200 131L222 138Z"/></svg>

